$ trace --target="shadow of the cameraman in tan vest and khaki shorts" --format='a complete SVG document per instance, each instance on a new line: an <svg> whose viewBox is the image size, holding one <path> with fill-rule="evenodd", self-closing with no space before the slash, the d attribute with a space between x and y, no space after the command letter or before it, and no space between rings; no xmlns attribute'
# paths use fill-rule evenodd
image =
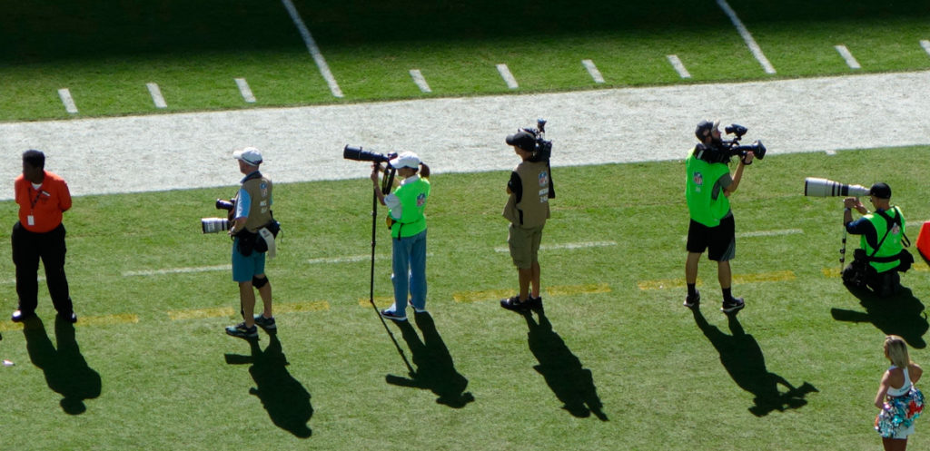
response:
<svg viewBox="0 0 930 451"><path fill-rule="evenodd" d="M536 312L538 322L533 319L532 312L524 312L529 328L526 334L529 350L539 362L533 369L546 379L555 397L564 404L562 408L572 416L588 418L594 414L601 421L607 421L591 370L581 365L565 340L552 330L546 314L541 309Z"/></svg>

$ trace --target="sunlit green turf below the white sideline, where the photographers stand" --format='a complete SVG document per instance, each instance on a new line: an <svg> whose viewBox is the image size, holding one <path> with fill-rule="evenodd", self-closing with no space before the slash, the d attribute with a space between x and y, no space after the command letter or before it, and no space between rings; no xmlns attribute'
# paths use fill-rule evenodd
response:
<svg viewBox="0 0 930 451"><path fill-rule="evenodd" d="M427 210L434 325L390 325L418 372L412 380L367 305L365 167L355 180L276 186L285 235L268 273L279 341L261 333L254 350L223 334L232 315L168 314L233 308L228 271L124 275L225 264L228 239L201 234L197 222L216 214L212 200L232 186L78 197L65 219L81 317L76 347L67 328L56 329L44 288L44 329L26 334L0 322L0 357L16 363L0 367L3 444L874 449L871 399L886 365L883 334L904 336L912 357L927 362L927 267L919 261L919 271L902 277L909 295L860 301L824 273L839 269L841 200L804 197L803 179L885 180L910 222L921 223L930 216L921 170L928 157L927 147L769 154L749 167L732 199L740 233L734 289L748 307L732 322L717 310L716 273L706 259L701 315L681 305L681 161L554 168L557 197L543 244L616 245L541 251L543 287L554 291L544 291L544 318L531 319L503 311L495 295L516 288L507 253L495 250L506 246L499 212L507 172L436 174ZM266 171L274 177L272 166ZM0 212L12 221L16 206L0 203ZM391 295L389 242L378 224L375 288L383 303ZM784 230L803 233L742 235ZM0 240L8 242L7 231ZM917 228L908 234L916 240ZM352 256L361 258L311 262ZM5 312L16 302L13 271L0 259ZM319 302L328 309L286 312ZM128 315L138 323L121 322ZM797 391L786 393L779 379ZM921 449L922 435L911 442Z"/></svg>

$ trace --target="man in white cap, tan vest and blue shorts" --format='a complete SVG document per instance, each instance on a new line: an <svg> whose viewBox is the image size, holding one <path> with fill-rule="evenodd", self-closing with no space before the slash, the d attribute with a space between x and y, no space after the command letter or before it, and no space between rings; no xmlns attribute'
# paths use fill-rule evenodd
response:
<svg viewBox="0 0 930 451"><path fill-rule="evenodd" d="M233 153L238 160L242 179L239 192L233 197L232 225L229 234L233 237L233 281L239 284L239 300L243 322L226 327L233 337L257 338L260 325L266 331L277 329L272 316L272 285L265 276L265 252L255 249L257 240L263 239L259 229L272 221L272 180L261 175L259 165L261 153L254 147L246 147ZM255 314L255 292L259 290L264 304L262 314Z"/></svg>

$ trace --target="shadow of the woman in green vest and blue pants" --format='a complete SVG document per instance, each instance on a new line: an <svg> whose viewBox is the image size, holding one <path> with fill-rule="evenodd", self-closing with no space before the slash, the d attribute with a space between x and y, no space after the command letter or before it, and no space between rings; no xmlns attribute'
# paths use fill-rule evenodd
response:
<svg viewBox="0 0 930 451"><path fill-rule="evenodd" d="M401 387L431 390L439 396L436 403L449 407L461 408L474 401L472 393L465 391L468 379L458 374L430 313L416 313L414 318L423 333L423 339L419 338L409 321L398 322L397 326L413 354L413 364L417 365L417 370L410 378L388 375L385 380Z"/></svg>

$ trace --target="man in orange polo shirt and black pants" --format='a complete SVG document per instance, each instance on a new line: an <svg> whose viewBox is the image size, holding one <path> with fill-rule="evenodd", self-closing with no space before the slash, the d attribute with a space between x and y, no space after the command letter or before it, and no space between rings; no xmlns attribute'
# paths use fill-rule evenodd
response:
<svg viewBox="0 0 930 451"><path fill-rule="evenodd" d="M22 153L22 175L13 184L16 203L20 205L20 220L12 233L20 306L13 312L12 320L19 323L35 315L39 291L36 275L42 259L55 310L62 319L75 323L77 315L64 274L65 230L61 224L61 214L71 208L71 192L68 183L46 171L45 166L45 153L34 150Z"/></svg>

